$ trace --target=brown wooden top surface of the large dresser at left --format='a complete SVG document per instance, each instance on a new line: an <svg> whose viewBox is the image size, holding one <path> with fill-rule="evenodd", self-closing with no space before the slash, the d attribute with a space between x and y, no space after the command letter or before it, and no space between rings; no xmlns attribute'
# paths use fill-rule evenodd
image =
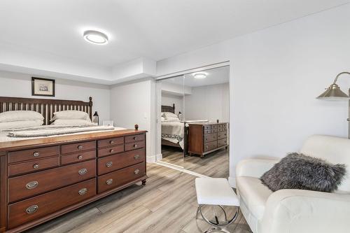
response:
<svg viewBox="0 0 350 233"><path fill-rule="evenodd" d="M77 141L93 141L99 139L108 139L118 136L128 136L133 134L145 134L145 130L123 129L107 132L91 132L89 134L73 134L50 136L40 139L25 139L18 141L5 141L0 143L0 155L6 150L22 150L23 148L32 148L38 146L51 146L63 143L74 143Z"/></svg>

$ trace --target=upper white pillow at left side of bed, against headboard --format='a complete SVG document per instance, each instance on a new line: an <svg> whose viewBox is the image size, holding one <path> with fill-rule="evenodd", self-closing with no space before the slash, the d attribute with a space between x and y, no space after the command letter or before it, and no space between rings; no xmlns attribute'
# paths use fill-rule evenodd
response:
<svg viewBox="0 0 350 233"><path fill-rule="evenodd" d="M0 113L0 122L13 122L22 120L43 120L43 115L35 111L6 111Z"/></svg>

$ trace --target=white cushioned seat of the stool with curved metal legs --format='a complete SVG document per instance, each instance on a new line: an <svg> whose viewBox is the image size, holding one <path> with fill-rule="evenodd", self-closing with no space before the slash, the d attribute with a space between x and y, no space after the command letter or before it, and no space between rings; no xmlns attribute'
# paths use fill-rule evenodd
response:
<svg viewBox="0 0 350 233"><path fill-rule="evenodd" d="M200 205L239 206L239 199L225 178L196 178L195 188Z"/></svg>

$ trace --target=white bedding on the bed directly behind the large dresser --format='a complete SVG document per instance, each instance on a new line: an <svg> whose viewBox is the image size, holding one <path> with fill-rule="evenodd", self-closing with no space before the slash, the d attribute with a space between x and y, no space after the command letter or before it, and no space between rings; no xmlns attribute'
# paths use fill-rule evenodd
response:
<svg viewBox="0 0 350 233"><path fill-rule="evenodd" d="M41 127L31 127L31 128L25 128L25 129L13 129L13 130L0 130L0 142L5 141L19 141L19 140L27 140L27 139L40 139L43 137L54 137L54 136L62 136L62 135L76 135L76 134L89 134L92 131L93 132L106 132L106 131L118 131L123 130L125 128L123 127L111 127L109 129L104 128L104 126L94 126L94 130L87 131L87 132L74 132L74 133L67 133L67 132L61 132L60 134L50 135L50 136L34 136L35 132L43 132L43 130L48 130L48 132L52 132L52 130L59 131L64 129L72 129L73 127L66 127L66 126L53 126L53 125L45 125ZM81 129L81 128L80 128ZM34 132L32 134L33 136L30 137L10 137L8 134L15 133L15 132Z"/></svg>

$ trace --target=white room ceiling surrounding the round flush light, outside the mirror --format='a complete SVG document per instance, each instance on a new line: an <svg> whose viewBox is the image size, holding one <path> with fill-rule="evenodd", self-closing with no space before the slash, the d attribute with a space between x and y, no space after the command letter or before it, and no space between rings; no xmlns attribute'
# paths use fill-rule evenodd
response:
<svg viewBox="0 0 350 233"><path fill-rule="evenodd" d="M111 67L153 61L339 6L348 0L1 0L0 45ZM85 29L110 37L83 40Z"/></svg>

